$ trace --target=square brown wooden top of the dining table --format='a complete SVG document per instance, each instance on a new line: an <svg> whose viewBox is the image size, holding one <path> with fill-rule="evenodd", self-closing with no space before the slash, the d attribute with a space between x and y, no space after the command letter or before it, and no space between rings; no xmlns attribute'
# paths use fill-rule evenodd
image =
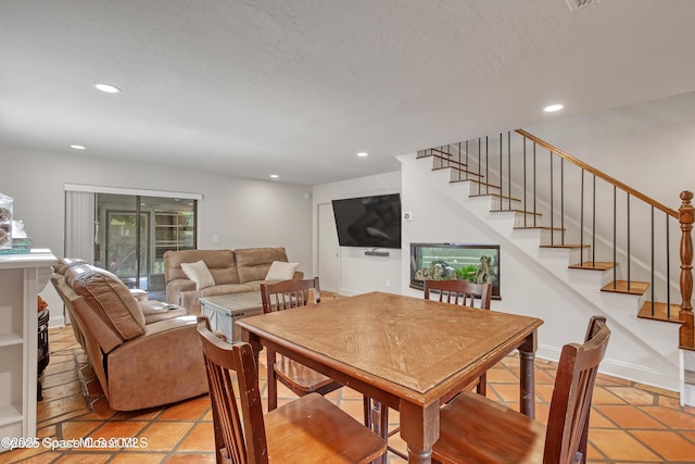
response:
<svg viewBox="0 0 695 464"><path fill-rule="evenodd" d="M473 381L543 321L371 292L237 324L330 371L427 405Z"/></svg>

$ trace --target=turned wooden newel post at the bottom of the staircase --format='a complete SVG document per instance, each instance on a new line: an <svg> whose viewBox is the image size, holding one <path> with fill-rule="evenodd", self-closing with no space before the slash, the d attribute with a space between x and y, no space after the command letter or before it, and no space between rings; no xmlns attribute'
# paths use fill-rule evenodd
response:
<svg viewBox="0 0 695 464"><path fill-rule="evenodd" d="M681 192L681 208L678 210L679 222L681 223L681 321L680 340L681 348L694 349L695 337L693 331L693 222L695 221L695 208L691 204L692 191Z"/></svg>

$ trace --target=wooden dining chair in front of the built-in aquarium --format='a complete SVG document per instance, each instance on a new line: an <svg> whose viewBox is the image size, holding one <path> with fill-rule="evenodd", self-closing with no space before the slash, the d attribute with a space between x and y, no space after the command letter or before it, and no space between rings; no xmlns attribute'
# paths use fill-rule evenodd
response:
<svg viewBox="0 0 695 464"><path fill-rule="evenodd" d="M425 299L430 300L430 293L438 292L439 301L460 304L468 308L490 310L492 301L492 284L472 284L466 280L425 280ZM476 300L479 300L476 305ZM481 375L476 385L476 391L485 396L488 393L488 376Z"/></svg>

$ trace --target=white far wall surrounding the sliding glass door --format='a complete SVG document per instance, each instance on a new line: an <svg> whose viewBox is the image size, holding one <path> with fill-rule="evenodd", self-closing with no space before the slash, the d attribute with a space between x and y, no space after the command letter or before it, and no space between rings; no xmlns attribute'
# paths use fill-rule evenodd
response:
<svg viewBox="0 0 695 464"><path fill-rule="evenodd" d="M15 217L24 221L35 248L50 248L58 258L63 256L64 250L63 187L86 184L202 193L198 209L199 248L281 246L291 261L300 263L300 271L312 272L312 202L307 187L165 164L105 161L88 153L0 147L0 192L14 198ZM213 243L213 235L219 236L218 243ZM58 296L50 293L49 304L62 308Z"/></svg>

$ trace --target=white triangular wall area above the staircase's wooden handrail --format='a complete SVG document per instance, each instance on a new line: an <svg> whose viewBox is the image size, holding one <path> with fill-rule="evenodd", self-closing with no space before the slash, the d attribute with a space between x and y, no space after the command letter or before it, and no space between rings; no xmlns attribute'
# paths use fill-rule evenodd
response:
<svg viewBox="0 0 695 464"><path fill-rule="evenodd" d="M665 205L695 189L695 92L526 128Z"/></svg>

